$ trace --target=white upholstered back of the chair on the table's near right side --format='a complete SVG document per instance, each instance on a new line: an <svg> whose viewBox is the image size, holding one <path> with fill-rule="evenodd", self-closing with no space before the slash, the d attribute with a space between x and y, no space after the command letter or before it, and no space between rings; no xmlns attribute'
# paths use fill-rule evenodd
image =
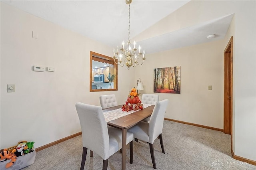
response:
<svg viewBox="0 0 256 170"><path fill-rule="evenodd" d="M168 99L156 102L153 113L150 117L148 127L149 143L153 143L154 140L162 133L164 125L164 113L168 105Z"/></svg>

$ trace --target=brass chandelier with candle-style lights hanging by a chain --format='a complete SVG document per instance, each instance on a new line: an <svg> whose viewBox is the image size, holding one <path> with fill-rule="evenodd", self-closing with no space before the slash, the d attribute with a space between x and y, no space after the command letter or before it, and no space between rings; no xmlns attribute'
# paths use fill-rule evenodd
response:
<svg viewBox="0 0 256 170"><path fill-rule="evenodd" d="M127 69L130 69L130 67L136 67L136 65L142 65L144 63L145 58L145 50L143 50L143 53L141 52L141 47L139 45L138 53L136 54L136 42L133 43L133 48L131 47L130 42L130 3L132 3L132 0L125 0L126 4L129 4L129 27L128 27L128 42L127 42L127 48L124 49L124 41L122 42L122 48L113 49L114 52L114 61L116 64L121 65L122 67L124 65L127 66ZM120 50L120 52L119 52ZM141 55L143 54L143 57L141 58ZM137 59L142 59L142 63L138 63Z"/></svg>

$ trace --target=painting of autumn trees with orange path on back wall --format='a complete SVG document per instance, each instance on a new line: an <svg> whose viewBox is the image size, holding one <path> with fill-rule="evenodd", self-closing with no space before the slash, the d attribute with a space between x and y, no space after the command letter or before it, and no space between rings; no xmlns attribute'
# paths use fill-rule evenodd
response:
<svg viewBox="0 0 256 170"><path fill-rule="evenodd" d="M180 66L154 69L154 93L180 94Z"/></svg>

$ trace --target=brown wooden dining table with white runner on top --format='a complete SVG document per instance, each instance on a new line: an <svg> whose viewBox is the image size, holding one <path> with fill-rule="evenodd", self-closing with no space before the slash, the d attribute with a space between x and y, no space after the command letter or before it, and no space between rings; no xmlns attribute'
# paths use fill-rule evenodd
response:
<svg viewBox="0 0 256 170"><path fill-rule="evenodd" d="M134 110L128 111L128 113L127 113L127 111L122 111L122 109L121 109L122 106L123 105L118 105L118 106L103 109L103 114L105 116L105 120L107 122L107 125L122 130L122 170L125 170L125 168L126 168L126 134L127 134L127 129L137 125L140 121L150 117L152 112L153 112L153 109L154 109L155 105L144 104L143 109L137 110L137 111L134 111ZM118 115L118 114L121 117L118 116L117 119L112 118L112 117L115 117L115 115ZM109 116L109 115L113 115L113 116Z"/></svg>

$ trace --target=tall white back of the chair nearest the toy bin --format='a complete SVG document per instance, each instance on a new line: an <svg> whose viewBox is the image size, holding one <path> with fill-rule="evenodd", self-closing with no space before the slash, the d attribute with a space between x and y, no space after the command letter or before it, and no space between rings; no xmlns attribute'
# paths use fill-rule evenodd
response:
<svg viewBox="0 0 256 170"><path fill-rule="evenodd" d="M76 103L76 111L82 129L83 147L106 160L109 155L109 136L102 108L79 102Z"/></svg>

